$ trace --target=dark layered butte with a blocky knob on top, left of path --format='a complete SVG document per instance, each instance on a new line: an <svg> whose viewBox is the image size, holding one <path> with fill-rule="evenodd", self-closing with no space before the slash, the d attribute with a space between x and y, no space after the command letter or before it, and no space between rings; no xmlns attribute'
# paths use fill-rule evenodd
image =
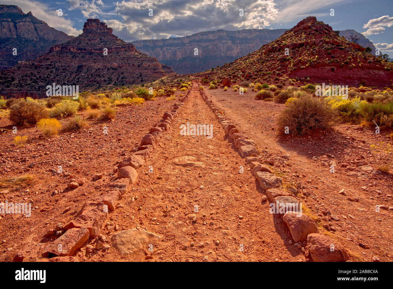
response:
<svg viewBox="0 0 393 289"><path fill-rule="evenodd" d="M106 85L149 83L173 70L112 34L98 19L88 19L78 37L54 45L34 60L0 72L0 94L45 97L46 86L79 85L79 92Z"/></svg>

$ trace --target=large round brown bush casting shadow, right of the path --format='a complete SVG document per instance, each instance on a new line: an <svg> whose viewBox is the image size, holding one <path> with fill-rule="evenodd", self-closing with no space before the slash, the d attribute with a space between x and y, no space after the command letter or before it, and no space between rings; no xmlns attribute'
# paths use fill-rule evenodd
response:
<svg viewBox="0 0 393 289"><path fill-rule="evenodd" d="M277 124L282 132L289 127L293 135L305 135L316 129L329 129L332 118L332 110L325 100L303 96L288 104Z"/></svg>

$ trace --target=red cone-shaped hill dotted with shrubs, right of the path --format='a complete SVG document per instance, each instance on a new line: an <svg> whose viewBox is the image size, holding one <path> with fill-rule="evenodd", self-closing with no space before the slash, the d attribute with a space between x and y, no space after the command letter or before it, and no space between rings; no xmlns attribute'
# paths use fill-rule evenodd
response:
<svg viewBox="0 0 393 289"><path fill-rule="evenodd" d="M275 84L282 79L336 85L387 87L392 66L339 36L329 25L307 17L281 37L232 63L196 76ZM282 78L282 76L285 76Z"/></svg>

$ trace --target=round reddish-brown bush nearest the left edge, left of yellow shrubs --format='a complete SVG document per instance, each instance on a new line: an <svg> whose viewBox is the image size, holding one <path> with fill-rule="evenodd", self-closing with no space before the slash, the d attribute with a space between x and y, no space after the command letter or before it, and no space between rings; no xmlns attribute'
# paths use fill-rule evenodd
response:
<svg viewBox="0 0 393 289"><path fill-rule="evenodd" d="M17 100L10 107L9 119L14 124L36 124L42 118L48 118L48 110L34 102Z"/></svg>

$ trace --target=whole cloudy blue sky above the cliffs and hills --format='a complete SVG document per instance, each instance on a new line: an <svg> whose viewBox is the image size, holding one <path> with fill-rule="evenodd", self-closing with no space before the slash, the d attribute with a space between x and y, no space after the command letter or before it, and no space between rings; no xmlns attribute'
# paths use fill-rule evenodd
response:
<svg viewBox="0 0 393 289"><path fill-rule="evenodd" d="M393 0L0 0L0 4L18 5L24 13L31 11L74 36L82 33L87 18L99 18L125 41L217 29L289 29L316 16L334 30L363 33L393 58Z"/></svg>

